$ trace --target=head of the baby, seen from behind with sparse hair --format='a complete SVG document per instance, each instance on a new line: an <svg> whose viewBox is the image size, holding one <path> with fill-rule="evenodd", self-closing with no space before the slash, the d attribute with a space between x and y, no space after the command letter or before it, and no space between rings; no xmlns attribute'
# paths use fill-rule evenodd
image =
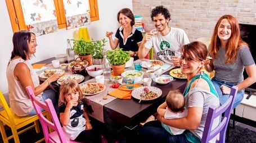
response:
<svg viewBox="0 0 256 143"><path fill-rule="evenodd" d="M170 111L177 113L185 109L185 98L179 90L171 90L166 96L165 102Z"/></svg>

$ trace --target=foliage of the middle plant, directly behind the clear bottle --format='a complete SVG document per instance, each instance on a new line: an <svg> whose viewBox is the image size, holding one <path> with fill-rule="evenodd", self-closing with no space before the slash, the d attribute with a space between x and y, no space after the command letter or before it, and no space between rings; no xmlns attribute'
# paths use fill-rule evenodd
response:
<svg viewBox="0 0 256 143"><path fill-rule="evenodd" d="M107 40L105 38L101 40L93 41L93 55L92 55L93 58L96 58L96 59L103 58L103 48L106 42Z"/></svg>

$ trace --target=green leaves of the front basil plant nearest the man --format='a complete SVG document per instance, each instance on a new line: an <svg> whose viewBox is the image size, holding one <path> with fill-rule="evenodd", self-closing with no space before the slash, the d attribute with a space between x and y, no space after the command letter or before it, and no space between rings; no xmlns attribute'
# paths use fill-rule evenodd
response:
<svg viewBox="0 0 256 143"><path fill-rule="evenodd" d="M122 48L116 48L115 50L107 50L107 58L114 66L120 66L128 62L130 56L128 51L123 51Z"/></svg>

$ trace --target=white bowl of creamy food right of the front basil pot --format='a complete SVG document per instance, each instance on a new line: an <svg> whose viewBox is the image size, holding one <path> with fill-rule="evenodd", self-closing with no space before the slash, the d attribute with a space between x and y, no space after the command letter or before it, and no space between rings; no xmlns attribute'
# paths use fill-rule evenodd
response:
<svg viewBox="0 0 256 143"><path fill-rule="evenodd" d="M136 70L131 70L131 71L125 71L121 74L123 76L123 80L125 81L127 78L132 78L134 79L134 82L139 82L143 79L143 72L142 71L136 71Z"/></svg>

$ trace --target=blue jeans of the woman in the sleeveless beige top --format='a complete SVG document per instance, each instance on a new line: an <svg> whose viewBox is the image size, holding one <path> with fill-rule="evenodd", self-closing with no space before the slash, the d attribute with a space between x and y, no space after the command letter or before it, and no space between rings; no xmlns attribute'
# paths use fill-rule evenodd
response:
<svg viewBox="0 0 256 143"><path fill-rule="evenodd" d="M52 100L52 104L55 108L56 113L59 113L58 99L56 99L56 93L54 90L49 89L49 90L43 91L41 102L44 102L46 99ZM41 111L43 112L44 109L41 108ZM36 114L37 112L35 112L35 108L33 108L32 111L28 114L28 116L34 116Z"/></svg>

